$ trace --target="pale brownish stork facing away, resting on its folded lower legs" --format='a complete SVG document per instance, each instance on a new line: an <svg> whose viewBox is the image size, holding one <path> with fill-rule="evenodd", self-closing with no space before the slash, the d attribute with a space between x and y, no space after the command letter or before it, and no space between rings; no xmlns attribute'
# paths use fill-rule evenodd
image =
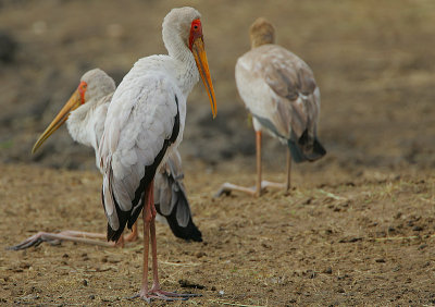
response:
<svg viewBox="0 0 435 307"><path fill-rule="evenodd" d="M315 161L326 150L316 131L320 90L311 69L300 58L275 45L275 29L260 17L250 27L251 50L236 63L238 93L252 114L257 143L257 184L249 188L224 183L216 196L239 191L260 196L265 187L290 187L291 158ZM261 135L266 132L287 146L285 184L261 181Z"/></svg>

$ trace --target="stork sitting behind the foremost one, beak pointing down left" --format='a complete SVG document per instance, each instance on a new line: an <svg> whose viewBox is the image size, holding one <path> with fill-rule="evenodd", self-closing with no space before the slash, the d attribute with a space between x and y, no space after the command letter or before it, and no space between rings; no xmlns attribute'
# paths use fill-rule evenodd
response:
<svg viewBox="0 0 435 307"><path fill-rule="evenodd" d="M96 150L97 167L99 168L98 147L104 130L108 107L115 90L114 81L99 69L85 73L75 93L62 108L55 119L36 142L33 152L45 143L64 122L74 140L92 147ZM156 175L156 202L159 212L166 219L175 236L184 240L202 241L201 232L195 225L186 189L183 184L183 170L179 154L175 150L167 159L165 167ZM24 249L40 244L41 242L72 241L100 246L115 246L113 243L95 241L105 238L103 233L89 233L82 231L62 231L60 233L38 232L11 249ZM121 236L120 238L124 238ZM124 241L137 238L136 224L133 232ZM123 245L119 242L117 245Z"/></svg>

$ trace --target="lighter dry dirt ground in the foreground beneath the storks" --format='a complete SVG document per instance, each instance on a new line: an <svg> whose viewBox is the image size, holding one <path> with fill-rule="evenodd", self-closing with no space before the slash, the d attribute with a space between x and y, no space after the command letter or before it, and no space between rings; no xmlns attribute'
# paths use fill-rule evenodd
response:
<svg viewBox="0 0 435 307"><path fill-rule="evenodd" d="M435 304L432 174L351 176L328 168L312 179L296 171L289 195L211 197L226 180L251 184L252 175L240 171L187 168L203 243L176 240L158 224L163 286L202 295L183 305ZM2 247L38 230L105 229L98 174L28 165L1 165L0 172L9 174L0 188L7 208ZM0 253L0 299L9 305L127 306L140 284L140 243L124 249L41 244Z"/></svg>

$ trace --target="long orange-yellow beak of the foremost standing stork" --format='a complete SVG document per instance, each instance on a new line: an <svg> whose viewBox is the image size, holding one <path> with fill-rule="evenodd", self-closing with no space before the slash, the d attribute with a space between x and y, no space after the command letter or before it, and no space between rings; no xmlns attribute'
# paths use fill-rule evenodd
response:
<svg viewBox="0 0 435 307"><path fill-rule="evenodd" d="M199 74L201 75L207 94L209 95L211 112L213 113L214 119L217 114L216 97L214 96L214 88L210 77L209 62L207 61L207 53L202 37L198 37L194 40L194 44L191 45L191 52L194 53Z"/></svg>

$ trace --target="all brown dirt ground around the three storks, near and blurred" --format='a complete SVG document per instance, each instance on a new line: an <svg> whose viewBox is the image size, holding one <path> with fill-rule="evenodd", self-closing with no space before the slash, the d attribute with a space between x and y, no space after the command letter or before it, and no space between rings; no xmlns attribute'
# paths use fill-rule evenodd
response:
<svg viewBox="0 0 435 307"><path fill-rule="evenodd" d="M85 71L119 82L164 52L162 19L185 4L202 13L219 115L198 85L181 151L204 242L158 225L163 286L202 295L183 305L435 305L432 0L0 0L0 305L142 304L126 298L140 284L140 243L4 247L37 231L105 230L94 154L64 128L29 151ZM213 199L225 181L254 183L234 65L260 15L314 71L328 154L295 165L288 195ZM266 179L284 180L284 158L265 137Z"/></svg>

